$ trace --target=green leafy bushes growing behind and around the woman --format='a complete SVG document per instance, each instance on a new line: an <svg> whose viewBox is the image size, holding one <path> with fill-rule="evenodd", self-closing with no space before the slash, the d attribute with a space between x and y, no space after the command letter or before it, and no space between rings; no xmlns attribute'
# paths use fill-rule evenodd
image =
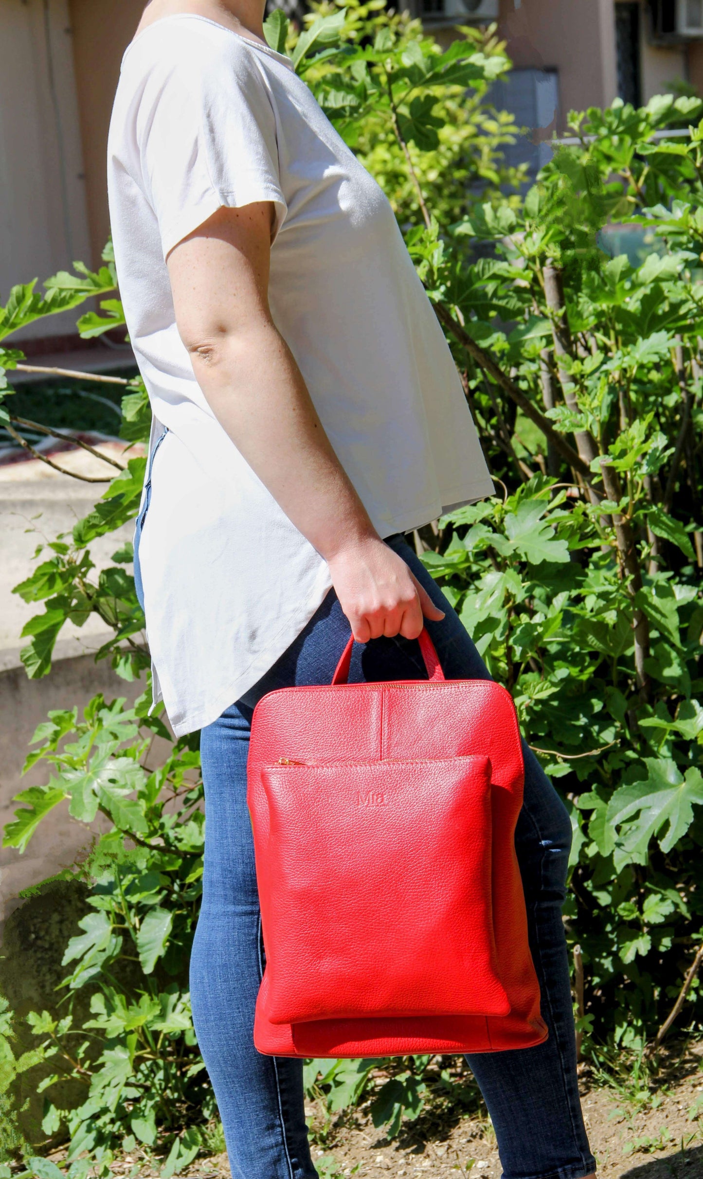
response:
<svg viewBox="0 0 703 1179"><path fill-rule="evenodd" d="M267 35L393 200L495 476L495 499L423 528L416 545L570 808L583 1050L594 1062L624 1048L656 1055L670 1013L691 1029L703 1016L703 103L664 95L572 116L577 145L527 189L500 162L514 127L488 103L508 67L491 31L466 29L442 52L418 22L353 4L321 8L301 35L274 13ZM639 235L638 256L611 256L613 226ZM57 276L44 296L15 288L0 340L92 294L109 296L106 314L84 316L81 330L119 323L105 261L97 275ZM8 370L20 357L0 351ZM11 406L0 413L15 430ZM123 409L125 442L144 440L139 380ZM126 459L17 588L44 604L25 627L29 676L48 673L65 621L91 612L113 631L98 658L125 679L147 667L131 547L98 578L90 558L93 539L137 512L144 460ZM133 709L96 699L81 719L51 713L28 759L51 777L18 796L5 832L24 850L65 798L79 821L100 810L111 824L74 869L91 911L66 948L60 1013L21 1028L0 1014L0 1101L9 1109L17 1074L44 1068L42 1133L70 1138L72 1175L106 1173L120 1144L138 1142L169 1152L167 1179L211 1141L186 992L203 844L197 739L172 743L147 772L149 742L167 737L150 704L147 687ZM83 988L92 1017L74 1025ZM71 1109L51 1100L61 1076L85 1093ZM370 1101L390 1133L429 1095L475 1101L471 1082L429 1058L313 1061L307 1085L331 1113Z"/></svg>

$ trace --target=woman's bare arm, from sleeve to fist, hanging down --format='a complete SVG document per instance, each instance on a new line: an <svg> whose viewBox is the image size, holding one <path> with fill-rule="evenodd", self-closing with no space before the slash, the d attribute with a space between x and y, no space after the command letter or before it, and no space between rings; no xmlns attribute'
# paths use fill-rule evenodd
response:
<svg viewBox="0 0 703 1179"><path fill-rule="evenodd" d="M433 605L373 527L268 304L272 204L219 209L167 257L176 322L215 416L329 565L360 643L414 639Z"/></svg>

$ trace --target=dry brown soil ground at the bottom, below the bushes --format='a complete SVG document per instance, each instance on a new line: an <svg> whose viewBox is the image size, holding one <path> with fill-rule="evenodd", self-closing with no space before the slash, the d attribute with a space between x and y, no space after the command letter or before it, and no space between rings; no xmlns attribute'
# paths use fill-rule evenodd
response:
<svg viewBox="0 0 703 1179"><path fill-rule="evenodd" d="M631 1071L606 1081L589 1066L579 1067L582 1101L591 1147L603 1179L703 1179L703 1043L670 1050L664 1067L637 1084ZM432 1105L418 1121L405 1122L389 1141L363 1109L331 1119L320 1104L307 1107L313 1158L323 1179L499 1179L495 1135L487 1118L460 1117ZM52 1158L60 1161L60 1151ZM131 1154L113 1164L116 1175L134 1175ZM140 1177L158 1175L143 1166ZM199 1158L184 1179L229 1179L225 1154Z"/></svg>

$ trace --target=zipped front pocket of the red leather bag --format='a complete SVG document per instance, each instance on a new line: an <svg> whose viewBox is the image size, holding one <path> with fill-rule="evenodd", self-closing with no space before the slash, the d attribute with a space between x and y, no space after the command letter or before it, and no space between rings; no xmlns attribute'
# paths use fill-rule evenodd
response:
<svg viewBox="0 0 703 1179"><path fill-rule="evenodd" d="M487 757L281 763L257 851L272 1023L506 1015Z"/></svg>

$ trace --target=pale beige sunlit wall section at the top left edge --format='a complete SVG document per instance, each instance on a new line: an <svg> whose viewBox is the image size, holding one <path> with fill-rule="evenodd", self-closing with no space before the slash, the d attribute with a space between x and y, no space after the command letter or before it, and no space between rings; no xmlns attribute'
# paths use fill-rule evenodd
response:
<svg viewBox="0 0 703 1179"><path fill-rule="evenodd" d="M83 152L66 0L0 7L0 297L88 253ZM60 335L60 315L13 338Z"/></svg>

